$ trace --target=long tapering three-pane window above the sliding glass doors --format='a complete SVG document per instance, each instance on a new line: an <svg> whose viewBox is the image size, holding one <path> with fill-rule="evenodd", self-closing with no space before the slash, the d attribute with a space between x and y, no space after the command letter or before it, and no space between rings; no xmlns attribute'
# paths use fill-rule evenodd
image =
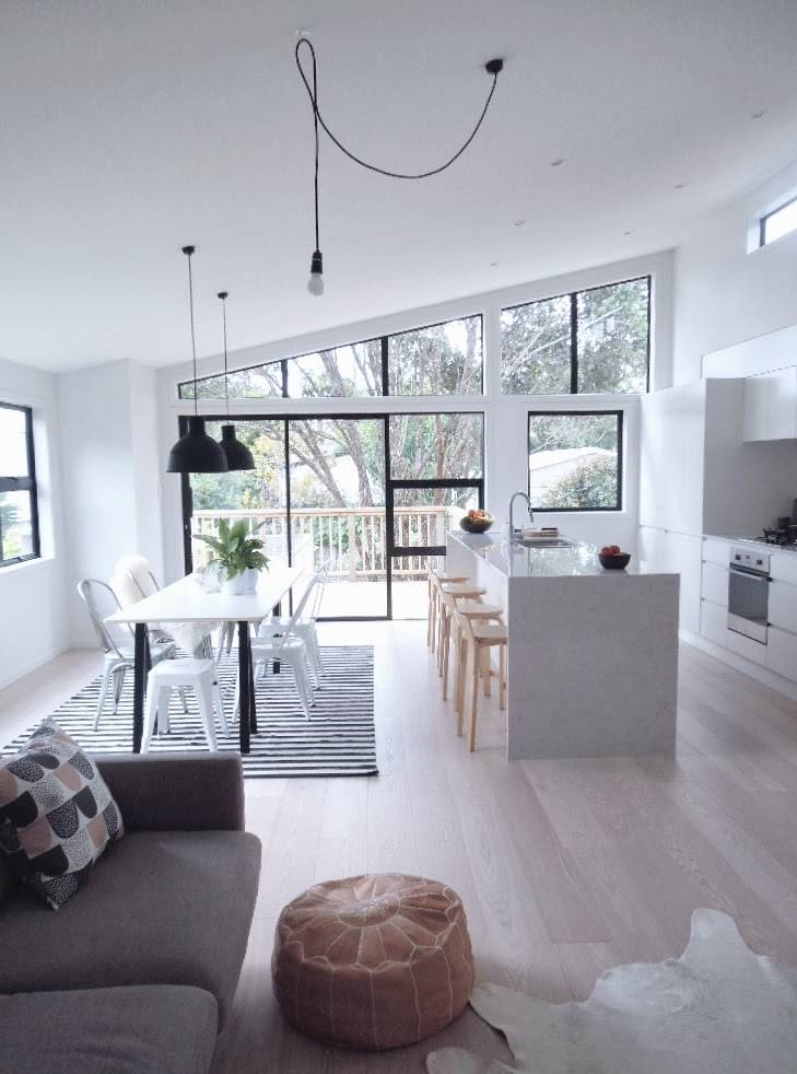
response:
<svg viewBox="0 0 797 1074"><path fill-rule="evenodd" d="M332 347L281 361L235 370L230 396L340 398L374 396L461 396L483 392L483 331L480 315ZM194 398L194 382L178 386ZM200 399L224 397L224 375L197 382Z"/></svg>

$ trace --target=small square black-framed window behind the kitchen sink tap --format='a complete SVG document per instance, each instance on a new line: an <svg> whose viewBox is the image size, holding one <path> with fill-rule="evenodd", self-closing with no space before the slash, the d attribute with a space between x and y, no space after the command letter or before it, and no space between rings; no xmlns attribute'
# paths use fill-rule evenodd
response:
<svg viewBox="0 0 797 1074"><path fill-rule="evenodd" d="M622 510L621 410L528 416L528 494L535 511Z"/></svg>

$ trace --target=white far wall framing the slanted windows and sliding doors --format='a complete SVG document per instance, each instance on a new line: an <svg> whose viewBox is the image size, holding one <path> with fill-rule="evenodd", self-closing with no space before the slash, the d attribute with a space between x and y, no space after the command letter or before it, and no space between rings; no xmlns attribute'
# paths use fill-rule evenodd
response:
<svg viewBox="0 0 797 1074"><path fill-rule="evenodd" d="M452 302L406 311L389 317L341 325L324 332L270 342L260 347L234 351L230 367L243 369L262 362L310 353L320 348L341 346L359 339L371 339L385 334L403 331L422 325L435 324L455 317L481 313L484 318L484 395L458 399L459 410L474 410L485 416L485 487L487 507L503 525L509 495L516 489L526 489L527 477L527 413L541 409L623 409L625 419L625 475L624 509L622 512L590 512L569 514L548 512L538 516L546 525L559 525L575 537L598 544L617 542L634 550L636 546L637 492L638 492L638 399L632 396L502 396L501 395L501 310L504 306L531 302L535 299L566 293L602 283L651 275L654 285L652 352L652 383L665 387L670 383L671 370L671 299L672 254L665 252L648 257L596 266L581 272L538 280L520 287L484 294L471 295ZM200 340L201 345L201 340ZM219 373L222 361L219 355L201 359L200 376ZM177 398L177 384L190 380L191 366L186 362L159 371L160 412L160 476L162 482L163 546L165 577L174 580L184 573L180 480L177 475L165 472L168 450L177 439L177 420L187 413L192 404ZM452 399L267 399L236 400L234 412L246 413L307 413L307 412L385 412L435 410L450 406ZM218 413L218 401L201 401L200 412ZM519 510L519 509L518 509ZM518 516L519 517L519 516Z"/></svg>

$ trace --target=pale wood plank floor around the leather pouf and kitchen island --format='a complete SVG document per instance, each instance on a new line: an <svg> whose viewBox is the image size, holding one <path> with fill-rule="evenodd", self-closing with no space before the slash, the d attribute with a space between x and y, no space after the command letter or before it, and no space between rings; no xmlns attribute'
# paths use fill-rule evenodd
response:
<svg viewBox="0 0 797 1074"><path fill-rule="evenodd" d="M325 628L329 641L376 647L378 778L247 783L262 878L214 1074L421 1071L446 1043L506 1059L471 1013L433 1044L383 1055L328 1050L283 1024L269 981L277 914L333 876L446 880L465 901L479 979L552 1001L586 997L619 962L680 954L696 907L727 911L754 950L797 965L795 702L683 646L675 763L508 764L494 700L478 752L457 739L424 629ZM90 654L67 654L1 693L5 740L95 667Z"/></svg>

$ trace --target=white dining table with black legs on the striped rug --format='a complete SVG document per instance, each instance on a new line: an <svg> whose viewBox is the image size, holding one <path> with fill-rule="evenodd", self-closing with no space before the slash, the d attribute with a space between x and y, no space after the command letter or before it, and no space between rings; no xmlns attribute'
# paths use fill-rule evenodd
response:
<svg viewBox="0 0 797 1074"><path fill-rule="evenodd" d="M239 596L207 593L189 575L107 617L107 623L127 623L133 628L133 752L141 750L144 726L144 690L151 667L148 627L171 622L208 627L218 622L237 622L241 751L249 752L249 735L257 731L249 629L253 623L260 623L272 615L304 573L302 567L273 565L260 575L254 593Z"/></svg>

